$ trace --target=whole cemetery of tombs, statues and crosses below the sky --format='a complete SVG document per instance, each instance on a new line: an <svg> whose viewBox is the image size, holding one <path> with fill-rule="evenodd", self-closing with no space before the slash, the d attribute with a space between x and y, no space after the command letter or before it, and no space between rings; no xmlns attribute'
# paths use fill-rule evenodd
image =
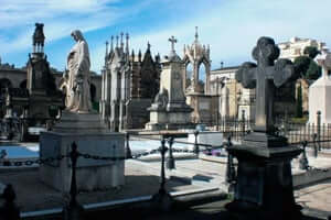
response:
<svg viewBox="0 0 331 220"><path fill-rule="evenodd" d="M211 50L197 28L183 58L174 36L161 58L149 43L143 56L130 54L121 33L106 43L95 109L85 32L68 34L74 44L58 84L43 28L36 23L32 35L26 87L1 85L0 219L331 219L327 50L316 58L322 75L309 87L309 120L297 124L275 102L300 66L280 57L273 37L257 38L255 62L237 67L232 118L224 113L229 78L211 79Z"/></svg>

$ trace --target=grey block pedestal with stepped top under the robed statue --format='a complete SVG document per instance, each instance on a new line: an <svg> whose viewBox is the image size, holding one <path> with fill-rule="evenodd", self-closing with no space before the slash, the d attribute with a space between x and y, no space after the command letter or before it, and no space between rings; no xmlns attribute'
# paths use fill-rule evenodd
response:
<svg viewBox="0 0 331 220"><path fill-rule="evenodd" d="M40 157L68 155L73 142L82 154L105 157L125 156L125 135L107 132L96 113L76 114L64 112L54 131L43 132L40 138ZM76 179L78 190L96 190L119 187L125 183L125 161L104 161L78 157ZM40 178L60 191L70 191L71 158L54 161L40 166Z"/></svg>

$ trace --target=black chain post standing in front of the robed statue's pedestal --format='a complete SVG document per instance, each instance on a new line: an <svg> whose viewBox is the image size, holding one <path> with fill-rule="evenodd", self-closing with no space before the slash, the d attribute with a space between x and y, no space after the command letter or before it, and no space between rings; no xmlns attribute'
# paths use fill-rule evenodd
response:
<svg viewBox="0 0 331 220"><path fill-rule="evenodd" d="M83 220L84 208L77 201L77 183L76 183L76 165L77 158L81 156L77 151L77 145L74 142L72 144L72 152L70 157L72 161L72 183L71 183L71 200L68 206L65 206L63 209L63 219L64 220Z"/></svg>

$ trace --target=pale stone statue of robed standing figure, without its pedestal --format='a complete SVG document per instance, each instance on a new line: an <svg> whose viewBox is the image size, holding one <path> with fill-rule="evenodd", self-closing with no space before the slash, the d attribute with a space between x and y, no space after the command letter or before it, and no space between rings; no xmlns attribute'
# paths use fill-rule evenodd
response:
<svg viewBox="0 0 331 220"><path fill-rule="evenodd" d="M87 113L92 109L88 45L79 30L73 31L71 35L77 43L67 56L66 108L73 112Z"/></svg>

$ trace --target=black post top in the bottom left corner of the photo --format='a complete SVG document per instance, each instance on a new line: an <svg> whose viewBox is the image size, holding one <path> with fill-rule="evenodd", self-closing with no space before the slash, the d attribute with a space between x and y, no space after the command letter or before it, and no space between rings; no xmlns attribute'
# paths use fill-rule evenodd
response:
<svg viewBox="0 0 331 220"><path fill-rule="evenodd" d="M3 190L2 198L4 199L3 206L0 208L0 219L19 220L21 219L20 209L15 205L15 191L11 184L8 184Z"/></svg>

